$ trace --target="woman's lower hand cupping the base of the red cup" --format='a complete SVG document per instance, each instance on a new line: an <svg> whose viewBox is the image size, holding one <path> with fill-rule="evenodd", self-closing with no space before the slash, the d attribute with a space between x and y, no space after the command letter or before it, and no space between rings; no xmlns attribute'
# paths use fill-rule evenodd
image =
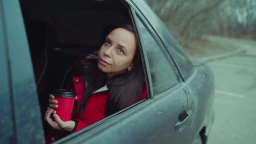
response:
<svg viewBox="0 0 256 144"><path fill-rule="evenodd" d="M51 115L53 114L53 119ZM70 120L64 122L60 119L59 115L56 114L56 111L52 108L47 107L47 111L45 112L45 121L51 125L53 129L61 130L61 131L72 131L75 127L75 122Z"/></svg>

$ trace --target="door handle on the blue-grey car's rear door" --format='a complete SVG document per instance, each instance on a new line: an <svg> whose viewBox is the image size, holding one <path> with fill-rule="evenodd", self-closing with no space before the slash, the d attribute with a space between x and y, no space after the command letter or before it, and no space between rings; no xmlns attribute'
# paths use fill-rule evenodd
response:
<svg viewBox="0 0 256 144"><path fill-rule="evenodd" d="M189 110L188 112L186 111L182 111L180 114L179 114L179 119L178 119L178 122L175 124L175 128L174 130L177 131L178 129L182 128L184 125L187 124L187 122L190 120L191 118L191 114L192 114L192 111Z"/></svg>

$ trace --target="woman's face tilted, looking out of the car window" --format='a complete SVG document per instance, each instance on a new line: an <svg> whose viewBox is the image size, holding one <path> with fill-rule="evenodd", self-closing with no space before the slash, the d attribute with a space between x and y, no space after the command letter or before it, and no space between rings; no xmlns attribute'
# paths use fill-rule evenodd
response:
<svg viewBox="0 0 256 144"><path fill-rule="evenodd" d="M136 39L133 32L123 28L114 29L101 46L98 67L107 73L108 79L133 67Z"/></svg>

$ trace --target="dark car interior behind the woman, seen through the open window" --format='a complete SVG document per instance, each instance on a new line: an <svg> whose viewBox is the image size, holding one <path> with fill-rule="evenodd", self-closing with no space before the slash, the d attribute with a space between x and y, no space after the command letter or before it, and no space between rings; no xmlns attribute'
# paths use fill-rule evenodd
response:
<svg viewBox="0 0 256 144"><path fill-rule="evenodd" d="M43 118L48 96L77 75L77 61L98 51L111 27L131 24L131 17L117 0L20 0L20 5Z"/></svg>

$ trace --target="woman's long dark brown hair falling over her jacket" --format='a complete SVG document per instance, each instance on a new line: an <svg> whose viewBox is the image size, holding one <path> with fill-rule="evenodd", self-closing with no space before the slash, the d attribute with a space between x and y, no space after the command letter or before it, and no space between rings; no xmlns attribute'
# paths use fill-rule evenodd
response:
<svg viewBox="0 0 256 144"><path fill-rule="evenodd" d="M141 99L144 83L144 72L141 63L141 55L138 47L138 36L131 25L122 25L113 27L123 28L129 32L133 32L136 37L136 53L133 57L133 67L130 71L125 71L122 74L115 75L107 80L107 74L98 69L97 55L92 59L83 59L82 78L86 83L85 92L80 104L77 107L79 110L80 119L83 118L83 112L88 99L97 89L107 84L108 99L105 109L105 117L112 115L133 104L135 100Z"/></svg>

